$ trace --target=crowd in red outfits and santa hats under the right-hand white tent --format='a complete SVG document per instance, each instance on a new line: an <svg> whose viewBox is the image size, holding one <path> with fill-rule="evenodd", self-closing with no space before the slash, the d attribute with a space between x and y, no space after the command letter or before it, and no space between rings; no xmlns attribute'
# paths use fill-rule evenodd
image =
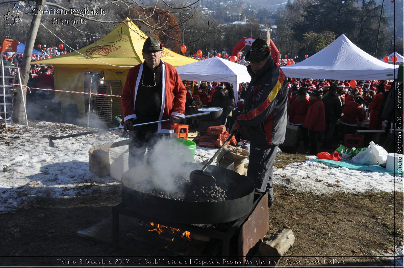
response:
<svg viewBox="0 0 404 268"><path fill-rule="evenodd" d="M365 80L357 84L346 80L288 79L288 121L299 126L305 149L317 155L317 141L322 147L334 149L332 136L340 120L343 140L345 134L355 134L363 110L368 109L369 130L381 130L384 118L380 111L393 81Z"/></svg>

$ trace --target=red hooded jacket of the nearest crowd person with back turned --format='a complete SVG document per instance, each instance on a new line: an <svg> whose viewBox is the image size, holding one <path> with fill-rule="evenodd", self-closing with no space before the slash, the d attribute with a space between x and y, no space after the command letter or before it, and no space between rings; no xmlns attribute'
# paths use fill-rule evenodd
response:
<svg viewBox="0 0 404 268"><path fill-rule="evenodd" d="M314 131L326 129L326 112L321 98L310 100L303 128Z"/></svg>

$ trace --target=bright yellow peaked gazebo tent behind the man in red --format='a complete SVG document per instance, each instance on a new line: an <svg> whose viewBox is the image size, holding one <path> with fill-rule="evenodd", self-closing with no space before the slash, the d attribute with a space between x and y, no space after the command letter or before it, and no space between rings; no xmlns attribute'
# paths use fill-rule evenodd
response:
<svg viewBox="0 0 404 268"><path fill-rule="evenodd" d="M84 92L84 72L103 72L105 80L120 80L124 86L127 71L143 62L142 48L147 38L132 21L120 23L101 40L77 51L31 64L53 65L55 89ZM162 60L174 67L196 62L164 48ZM119 92L119 95L121 92ZM82 94L55 92L55 98L66 107L69 103L78 105L78 114L84 115ZM115 100L114 108L120 106Z"/></svg>

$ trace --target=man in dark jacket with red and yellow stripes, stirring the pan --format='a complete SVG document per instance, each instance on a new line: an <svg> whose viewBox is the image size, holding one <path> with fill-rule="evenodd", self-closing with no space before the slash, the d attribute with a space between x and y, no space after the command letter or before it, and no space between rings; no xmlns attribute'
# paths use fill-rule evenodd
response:
<svg viewBox="0 0 404 268"><path fill-rule="evenodd" d="M286 133L288 87L286 77L271 59L267 41L256 39L246 54L251 82L244 100L244 113L237 117L231 132L246 128L250 140L247 176L257 191L268 191L268 205L274 203L272 165L278 145Z"/></svg>

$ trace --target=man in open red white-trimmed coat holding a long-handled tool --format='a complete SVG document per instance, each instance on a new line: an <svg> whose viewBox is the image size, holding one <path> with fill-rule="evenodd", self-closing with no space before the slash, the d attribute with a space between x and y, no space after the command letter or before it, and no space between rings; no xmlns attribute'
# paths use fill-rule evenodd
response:
<svg viewBox="0 0 404 268"><path fill-rule="evenodd" d="M156 138L174 133L174 124L185 117L187 92L177 70L161 60L163 48L158 39L147 38L142 50L145 61L129 70L122 89L121 124L130 130L130 165L142 165L146 148L151 153ZM132 126L164 119L170 121Z"/></svg>

